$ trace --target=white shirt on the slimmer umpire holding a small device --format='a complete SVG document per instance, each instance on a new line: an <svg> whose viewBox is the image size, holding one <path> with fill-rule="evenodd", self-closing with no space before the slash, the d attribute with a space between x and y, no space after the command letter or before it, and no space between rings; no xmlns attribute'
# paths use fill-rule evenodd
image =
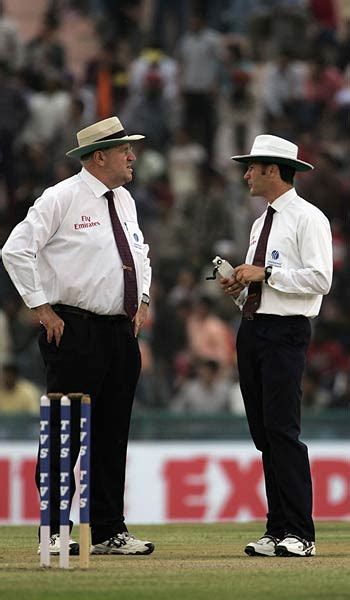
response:
<svg viewBox="0 0 350 600"><path fill-rule="evenodd" d="M328 219L313 204L297 195L294 188L273 204L272 227L267 242L265 265L272 266L268 284L262 282L257 313L316 317L322 296L332 283L332 236ZM252 264L266 211L250 234L246 263ZM241 307L247 288L237 299Z"/></svg>

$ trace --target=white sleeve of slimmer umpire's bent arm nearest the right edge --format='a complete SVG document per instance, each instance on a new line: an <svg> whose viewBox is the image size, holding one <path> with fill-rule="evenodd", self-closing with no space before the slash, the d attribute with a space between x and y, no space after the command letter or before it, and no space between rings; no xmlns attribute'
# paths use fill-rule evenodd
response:
<svg viewBox="0 0 350 600"><path fill-rule="evenodd" d="M272 268L268 285L288 294L328 294L332 284L332 235L323 214L304 215L297 231L300 267Z"/></svg>

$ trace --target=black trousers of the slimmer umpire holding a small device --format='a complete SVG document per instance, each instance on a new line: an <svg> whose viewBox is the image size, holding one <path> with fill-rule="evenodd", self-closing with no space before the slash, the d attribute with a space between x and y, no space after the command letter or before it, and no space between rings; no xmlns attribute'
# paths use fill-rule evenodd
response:
<svg viewBox="0 0 350 600"><path fill-rule="evenodd" d="M310 341L303 316L242 319L237 336L240 385L250 432L262 452L266 531L315 539L307 447L299 440L301 379Z"/></svg>

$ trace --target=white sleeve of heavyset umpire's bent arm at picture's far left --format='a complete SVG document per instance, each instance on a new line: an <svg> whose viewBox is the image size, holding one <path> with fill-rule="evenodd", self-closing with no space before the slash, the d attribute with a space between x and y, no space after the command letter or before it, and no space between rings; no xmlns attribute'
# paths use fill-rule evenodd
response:
<svg viewBox="0 0 350 600"><path fill-rule="evenodd" d="M36 255L60 224L54 194L46 190L26 218L10 234L2 249L2 261L20 296L29 308L47 302L37 269Z"/></svg>

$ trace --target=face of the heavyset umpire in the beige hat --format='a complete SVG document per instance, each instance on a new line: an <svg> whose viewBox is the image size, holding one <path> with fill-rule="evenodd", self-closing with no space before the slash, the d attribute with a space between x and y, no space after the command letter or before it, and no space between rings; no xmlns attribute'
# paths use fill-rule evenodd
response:
<svg viewBox="0 0 350 600"><path fill-rule="evenodd" d="M133 162L136 156L130 144L122 144L102 151L103 171L108 187L111 189L129 183L132 180Z"/></svg>

